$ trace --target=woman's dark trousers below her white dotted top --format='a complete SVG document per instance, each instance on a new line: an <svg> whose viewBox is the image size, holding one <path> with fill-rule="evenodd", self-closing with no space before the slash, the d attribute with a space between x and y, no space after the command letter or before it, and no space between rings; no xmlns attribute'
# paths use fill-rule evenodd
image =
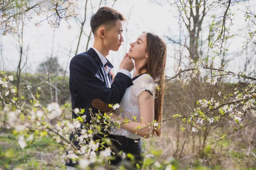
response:
<svg viewBox="0 0 256 170"><path fill-rule="evenodd" d="M111 165L122 165L127 170L140 170L143 167L145 149L140 139L116 135L109 135L109 138L112 141L112 150L116 153L112 155ZM125 158L119 154L120 151L125 153Z"/></svg>

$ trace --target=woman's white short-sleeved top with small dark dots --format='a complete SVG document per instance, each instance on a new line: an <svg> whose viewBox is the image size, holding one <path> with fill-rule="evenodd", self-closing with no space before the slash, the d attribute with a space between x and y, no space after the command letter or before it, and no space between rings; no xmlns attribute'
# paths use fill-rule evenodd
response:
<svg viewBox="0 0 256 170"><path fill-rule="evenodd" d="M153 98L155 98L155 85L153 78L148 74L141 74L134 77L133 84L134 85L126 89L122 101L119 104L119 108L116 109L115 113L121 115L122 117L126 117L131 121L134 120L132 116L137 116L136 120L139 122L140 105L138 95L142 91L148 91L153 96ZM113 135L125 136L131 139L139 139L142 137L123 129L122 127L112 127L111 132Z"/></svg>

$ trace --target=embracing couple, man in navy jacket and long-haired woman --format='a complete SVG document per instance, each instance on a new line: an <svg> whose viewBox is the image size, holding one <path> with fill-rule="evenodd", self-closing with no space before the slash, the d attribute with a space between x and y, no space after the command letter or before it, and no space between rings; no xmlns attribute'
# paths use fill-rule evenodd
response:
<svg viewBox="0 0 256 170"><path fill-rule="evenodd" d="M86 122L90 123L90 111L97 113L93 108L93 99L100 99L106 104L119 103L119 108L111 114L112 119L125 121L137 116L137 122L132 121L121 124L120 128L111 128L114 152L131 153L134 161L132 169L143 166L145 149L142 137L160 136L160 128L154 129L153 125L142 130L136 127L148 126L152 122L161 121L163 112L163 93L165 88L166 43L157 35L143 32L137 40L131 42L129 52L125 54L119 71L116 75L111 69L113 65L106 59L109 51L118 51L122 45L122 22L125 17L118 11L102 7L93 14L90 26L94 36L93 47L88 51L78 54L70 62L70 93L72 110L85 109ZM134 60L134 62L132 61ZM134 75L131 71L135 68ZM156 88L155 84L159 88ZM122 113L121 113L122 112ZM72 117L78 115L72 112ZM95 135L93 140L102 136ZM70 135L70 141L74 139ZM78 146L75 141L74 144ZM111 161L111 165L118 165L121 157ZM67 169L76 169L72 161L66 162ZM138 166L139 165L139 166Z"/></svg>

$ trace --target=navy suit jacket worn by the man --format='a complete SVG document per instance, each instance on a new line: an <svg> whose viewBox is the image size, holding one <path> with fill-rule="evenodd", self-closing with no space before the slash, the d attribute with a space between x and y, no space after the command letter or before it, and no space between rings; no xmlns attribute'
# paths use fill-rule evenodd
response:
<svg viewBox="0 0 256 170"><path fill-rule="evenodd" d="M126 88L133 85L130 77L123 73L117 73L111 87L108 87L107 76L105 74L105 67L102 64L98 54L93 48L87 52L81 53L73 57L70 61L70 94L72 110L75 108L85 109L86 122L90 123L90 112L92 108L93 113L98 110L93 108L91 102L93 99L101 99L107 104L120 103ZM72 118L78 117L72 111ZM74 135L70 135L70 141ZM74 142L77 145L77 142ZM67 166L73 166L70 162Z"/></svg>

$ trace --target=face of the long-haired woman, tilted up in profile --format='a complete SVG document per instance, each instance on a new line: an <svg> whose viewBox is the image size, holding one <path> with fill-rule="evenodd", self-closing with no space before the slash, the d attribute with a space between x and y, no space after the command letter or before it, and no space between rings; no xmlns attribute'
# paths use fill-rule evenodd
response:
<svg viewBox="0 0 256 170"><path fill-rule="evenodd" d="M145 59L147 57L146 48L147 40L146 34L140 34L135 42L132 42L131 48L129 49L128 56L134 60Z"/></svg>

